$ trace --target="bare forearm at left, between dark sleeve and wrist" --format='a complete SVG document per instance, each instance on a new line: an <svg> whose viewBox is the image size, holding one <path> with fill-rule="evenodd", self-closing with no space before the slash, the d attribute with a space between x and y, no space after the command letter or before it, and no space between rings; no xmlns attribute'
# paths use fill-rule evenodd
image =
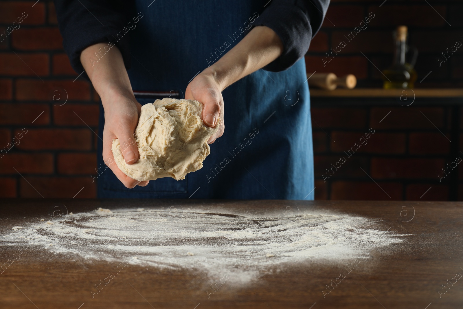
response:
<svg viewBox="0 0 463 309"><path fill-rule="evenodd" d="M105 109L108 104L117 101L113 100L115 96L125 96L135 100L119 49L113 46L109 51L105 51L107 45L107 43L94 44L81 53L81 63L93 87L100 95Z"/></svg>

